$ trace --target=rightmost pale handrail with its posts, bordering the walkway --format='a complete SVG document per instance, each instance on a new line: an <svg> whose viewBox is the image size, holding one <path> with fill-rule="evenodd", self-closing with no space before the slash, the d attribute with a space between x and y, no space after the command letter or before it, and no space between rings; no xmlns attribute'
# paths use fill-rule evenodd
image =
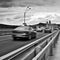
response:
<svg viewBox="0 0 60 60"><path fill-rule="evenodd" d="M57 42L58 35L59 31L32 60L48 60L48 56L53 55L53 48L55 47L55 44Z"/></svg>

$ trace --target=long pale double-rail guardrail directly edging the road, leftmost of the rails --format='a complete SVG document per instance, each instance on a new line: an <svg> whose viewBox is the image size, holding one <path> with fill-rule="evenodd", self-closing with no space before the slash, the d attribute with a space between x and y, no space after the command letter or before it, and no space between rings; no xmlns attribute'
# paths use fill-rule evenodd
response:
<svg viewBox="0 0 60 60"><path fill-rule="evenodd" d="M54 31L53 33L51 33L49 35L46 35L43 38L40 38L40 39L30 43L30 44L27 44L27 45L25 45L25 46L23 46L23 47L21 47L19 49L16 49L16 50L14 50L14 51L6 54L6 55L3 55L3 56L0 57L0 60L4 60L4 59L10 60L10 59L14 58L15 56L19 55L20 53L26 51L27 49L35 46L36 44L43 42L44 40L46 40L47 38L49 38L50 36L52 36L56 32L57 31Z"/></svg>

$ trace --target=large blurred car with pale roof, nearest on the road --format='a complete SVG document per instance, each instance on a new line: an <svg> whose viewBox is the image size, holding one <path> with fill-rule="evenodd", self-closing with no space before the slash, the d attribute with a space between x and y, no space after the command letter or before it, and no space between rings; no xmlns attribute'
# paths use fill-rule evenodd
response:
<svg viewBox="0 0 60 60"><path fill-rule="evenodd" d="M36 38L36 31L30 26L20 26L15 28L12 31L13 40L19 38L28 38L29 40L32 38Z"/></svg>

